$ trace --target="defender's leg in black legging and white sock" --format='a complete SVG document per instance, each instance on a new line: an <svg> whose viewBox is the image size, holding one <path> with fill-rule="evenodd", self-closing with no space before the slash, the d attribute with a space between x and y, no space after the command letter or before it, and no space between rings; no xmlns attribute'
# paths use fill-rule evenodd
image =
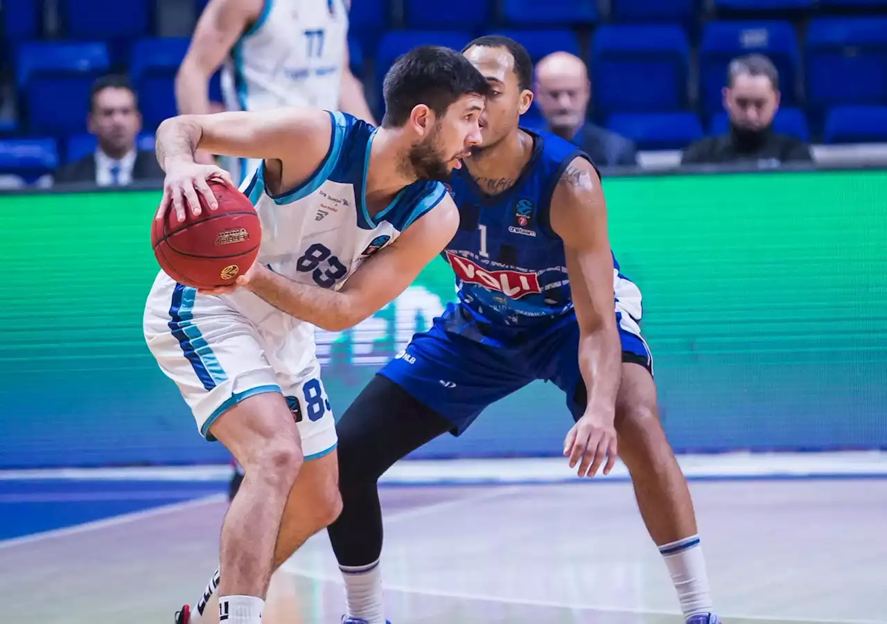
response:
<svg viewBox="0 0 887 624"><path fill-rule="evenodd" d="M398 459L452 424L388 378L376 375L336 425L342 511L327 528L346 584L348 616L384 624L382 514L377 482Z"/></svg>

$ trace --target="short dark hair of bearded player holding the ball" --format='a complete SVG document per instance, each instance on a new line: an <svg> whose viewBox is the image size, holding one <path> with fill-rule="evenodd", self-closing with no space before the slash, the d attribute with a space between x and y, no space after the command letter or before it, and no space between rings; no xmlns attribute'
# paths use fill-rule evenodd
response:
<svg viewBox="0 0 887 624"><path fill-rule="evenodd" d="M400 58L385 74L382 126L403 126L417 105L427 105L442 117L450 105L469 93L490 95L483 75L467 58L450 48L420 46Z"/></svg>

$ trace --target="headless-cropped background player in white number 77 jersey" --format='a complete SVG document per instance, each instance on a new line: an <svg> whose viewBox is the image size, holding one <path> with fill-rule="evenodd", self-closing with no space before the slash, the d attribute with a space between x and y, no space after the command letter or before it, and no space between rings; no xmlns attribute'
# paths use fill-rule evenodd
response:
<svg viewBox="0 0 887 624"><path fill-rule="evenodd" d="M176 78L179 113L210 113L209 79L223 66L229 111L308 106L375 123L348 52L349 0L209 0ZM230 159L239 183L258 160ZM198 161L210 164L208 154Z"/></svg>

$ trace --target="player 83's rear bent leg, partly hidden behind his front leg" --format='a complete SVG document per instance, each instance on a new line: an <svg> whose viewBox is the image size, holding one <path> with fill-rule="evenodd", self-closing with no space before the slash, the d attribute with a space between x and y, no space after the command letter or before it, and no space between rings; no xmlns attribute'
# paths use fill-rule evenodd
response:
<svg viewBox="0 0 887 624"><path fill-rule="evenodd" d="M334 521L341 511L339 495L338 456L333 451L328 455L312 459L302 464L290 490L287 506L280 521L277 544L274 549L274 570L292 557L311 535ZM213 580L194 609L192 624L214 624L218 621L216 608L216 587L221 574L216 570ZM277 599L273 596L274 583L268 590L269 608ZM267 618L267 613L266 616Z"/></svg>

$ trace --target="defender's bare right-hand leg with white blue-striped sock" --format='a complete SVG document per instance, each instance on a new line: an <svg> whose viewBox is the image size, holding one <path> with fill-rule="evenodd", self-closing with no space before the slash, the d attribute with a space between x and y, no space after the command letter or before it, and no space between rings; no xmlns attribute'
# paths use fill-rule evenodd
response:
<svg viewBox="0 0 887 624"><path fill-rule="evenodd" d="M638 363L622 365L616 435L640 515L665 558L681 611L687 619L710 613L709 579L693 500L659 420L653 377Z"/></svg>

